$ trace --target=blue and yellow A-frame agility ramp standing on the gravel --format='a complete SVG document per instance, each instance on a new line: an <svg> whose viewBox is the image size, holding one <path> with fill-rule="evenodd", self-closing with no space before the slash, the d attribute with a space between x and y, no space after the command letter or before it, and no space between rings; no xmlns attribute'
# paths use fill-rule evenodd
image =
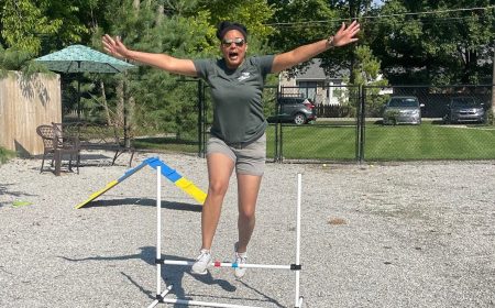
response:
<svg viewBox="0 0 495 308"><path fill-rule="evenodd" d="M91 196L89 196L89 198L86 199L84 202L80 202L79 205L77 205L76 209L80 209L81 207L91 202L92 200L95 200L99 196L103 195L105 193L107 193L108 190L113 188L116 185L122 183L124 179L127 179L131 175L135 174L138 170L142 169L146 165L154 169L156 169L157 166L161 166L163 176L168 178L172 183L175 184L175 186L177 186L178 188L184 190L186 194L191 196L200 205L205 204L207 194L205 194L201 189L199 189L190 180L183 177L179 173L177 173L177 170L167 166L158 157L150 157L150 158L144 160L140 165L135 166L134 168L127 170L123 176L110 182L102 189L100 189L100 190L96 191L95 194L92 194Z"/></svg>

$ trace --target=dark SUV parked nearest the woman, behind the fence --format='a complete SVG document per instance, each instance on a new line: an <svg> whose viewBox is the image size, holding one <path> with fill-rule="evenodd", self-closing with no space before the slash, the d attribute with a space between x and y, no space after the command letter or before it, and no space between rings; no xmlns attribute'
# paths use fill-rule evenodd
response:
<svg viewBox="0 0 495 308"><path fill-rule="evenodd" d="M317 119L315 105L309 98L279 97L276 108L277 114L266 119L271 123L294 122L300 125Z"/></svg>

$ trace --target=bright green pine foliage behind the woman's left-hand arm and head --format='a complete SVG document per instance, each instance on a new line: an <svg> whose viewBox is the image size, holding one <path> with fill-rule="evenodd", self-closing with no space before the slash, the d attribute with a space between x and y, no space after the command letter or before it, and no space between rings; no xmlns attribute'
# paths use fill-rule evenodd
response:
<svg viewBox="0 0 495 308"><path fill-rule="evenodd" d="M99 43L101 33L107 32L121 35L131 48L182 58L218 57L216 26L228 18L255 29L251 31L250 51L261 50L263 44L255 42L263 42L263 35L268 33L270 28L264 25L265 15L270 16L268 7L263 7L265 1L261 0L248 2L250 6L231 1L226 8L221 1L113 0L106 7L111 12L105 22L109 26L95 32L95 42ZM258 10L265 13L260 14ZM184 82L189 79L145 66L128 74L128 98L135 102L134 128L175 133L177 138L196 135L198 81ZM106 86L109 107L122 109L117 103L122 101L120 95L111 91L114 86Z"/></svg>

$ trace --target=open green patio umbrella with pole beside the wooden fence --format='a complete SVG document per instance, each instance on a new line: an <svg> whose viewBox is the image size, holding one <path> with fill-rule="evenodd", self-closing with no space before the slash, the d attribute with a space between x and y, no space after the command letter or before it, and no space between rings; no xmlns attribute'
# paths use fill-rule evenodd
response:
<svg viewBox="0 0 495 308"><path fill-rule="evenodd" d="M134 65L82 45L72 45L62 51L35 59L50 70L63 74L105 73L117 74ZM77 81L77 117L80 112L80 82Z"/></svg>

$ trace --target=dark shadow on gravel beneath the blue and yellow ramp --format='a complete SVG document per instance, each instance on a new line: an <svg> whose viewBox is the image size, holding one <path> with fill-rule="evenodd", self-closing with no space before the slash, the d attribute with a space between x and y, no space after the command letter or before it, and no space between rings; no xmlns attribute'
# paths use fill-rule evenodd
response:
<svg viewBox="0 0 495 308"><path fill-rule="evenodd" d="M156 199L148 198L123 198L123 199L111 199L111 200L96 200L87 204L81 209L94 208L94 207L118 207L118 206L131 206L140 205L146 207L156 207ZM170 202L162 200L162 208L169 210L180 210L180 211L195 211L200 212L202 206L197 204L186 204L186 202Z"/></svg>

